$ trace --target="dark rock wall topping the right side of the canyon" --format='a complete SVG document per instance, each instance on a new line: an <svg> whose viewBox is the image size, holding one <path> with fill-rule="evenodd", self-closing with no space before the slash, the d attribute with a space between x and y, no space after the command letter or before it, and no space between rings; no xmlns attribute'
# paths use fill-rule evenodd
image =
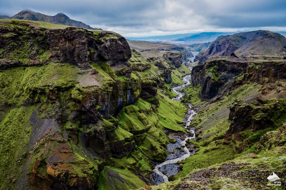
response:
<svg viewBox="0 0 286 190"><path fill-rule="evenodd" d="M193 67L192 82L200 85L200 98L209 100L247 82L267 84L286 78L285 61L231 62L211 60ZM285 84L283 84L283 87Z"/></svg>

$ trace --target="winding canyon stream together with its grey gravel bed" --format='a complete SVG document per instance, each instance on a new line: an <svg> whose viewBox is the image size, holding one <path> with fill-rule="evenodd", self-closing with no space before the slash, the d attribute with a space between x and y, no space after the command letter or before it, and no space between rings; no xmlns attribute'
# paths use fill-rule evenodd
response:
<svg viewBox="0 0 286 190"><path fill-rule="evenodd" d="M189 68L192 69L191 67ZM182 92L178 92L178 90L187 85L190 85L190 79L191 75L187 75L183 78L183 82L185 82L185 84L172 88L172 90L176 92L178 95L176 98L172 98L172 100L181 101L181 98L183 97L184 94ZM188 113L186 114L184 121L186 122L185 128L188 128L190 133L185 133L183 136L175 136L174 138L176 139L176 143L169 144L167 146L167 150L168 152L170 152L170 154L167 156L164 162L158 163L153 170L154 173L152 179L155 185L167 182L168 177L178 173L180 165L177 164L177 162L182 161L195 153L192 145L188 144L188 146L185 146L186 141L188 141L188 139L193 140L196 138L195 129L189 128L189 125L193 120L193 118L195 117L196 112L193 109L192 104L189 103L188 106L189 106ZM193 136L192 135L189 136L189 134L193 134Z"/></svg>

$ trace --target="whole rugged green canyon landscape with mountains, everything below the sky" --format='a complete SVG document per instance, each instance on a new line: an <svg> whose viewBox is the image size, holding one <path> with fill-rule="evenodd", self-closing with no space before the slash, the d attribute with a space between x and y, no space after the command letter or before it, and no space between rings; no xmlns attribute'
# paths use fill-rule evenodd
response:
<svg viewBox="0 0 286 190"><path fill-rule="evenodd" d="M201 36L0 20L0 189L284 189L286 38Z"/></svg>

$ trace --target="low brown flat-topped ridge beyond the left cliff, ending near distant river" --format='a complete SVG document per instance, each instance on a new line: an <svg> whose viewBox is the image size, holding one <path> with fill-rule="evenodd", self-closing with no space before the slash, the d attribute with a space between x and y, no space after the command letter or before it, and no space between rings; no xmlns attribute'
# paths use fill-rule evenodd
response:
<svg viewBox="0 0 286 190"><path fill-rule="evenodd" d="M194 57L190 49L171 43L155 43L147 41L131 41L127 39L131 48L138 50L159 50L159 51L179 51L182 53L183 61L189 61L188 58Z"/></svg>

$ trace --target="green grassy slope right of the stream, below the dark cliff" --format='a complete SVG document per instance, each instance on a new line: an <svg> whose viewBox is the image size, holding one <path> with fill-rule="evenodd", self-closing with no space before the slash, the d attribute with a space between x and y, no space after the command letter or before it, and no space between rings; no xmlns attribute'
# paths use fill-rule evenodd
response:
<svg viewBox="0 0 286 190"><path fill-rule="evenodd" d="M236 154L234 147L222 144L224 135L230 125L228 121L229 106L237 98L246 100L256 95L259 89L260 85L246 84L218 103L209 105L207 102L204 102L201 105L200 112L192 122L196 131L201 131L199 137L202 139L192 142L200 147L199 151L183 161L183 171L176 176L176 179L186 176L194 168L204 168L234 158ZM198 94L198 89L196 92L193 88L187 90L192 92L194 96ZM200 102L198 99L195 99L193 103L196 105Z"/></svg>

